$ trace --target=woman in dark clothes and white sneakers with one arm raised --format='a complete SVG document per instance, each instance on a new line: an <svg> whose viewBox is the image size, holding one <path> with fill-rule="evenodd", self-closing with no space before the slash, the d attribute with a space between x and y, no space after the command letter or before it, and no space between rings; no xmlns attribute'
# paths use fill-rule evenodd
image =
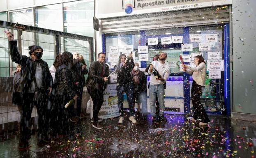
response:
<svg viewBox="0 0 256 158"><path fill-rule="evenodd" d="M132 58L132 54L129 54L130 62L126 60L126 55L121 54L119 56L117 74L118 74L118 85L116 86L117 94L118 94L118 108L120 112L120 118L118 123L122 124L124 120L123 109L124 109L124 93L127 95L127 101L129 104L129 120L136 124L137 121L134 117L134 108L133 108L133 93L134 93L134 85L131 78L131 70L134 68L134 62Z"/></svg>

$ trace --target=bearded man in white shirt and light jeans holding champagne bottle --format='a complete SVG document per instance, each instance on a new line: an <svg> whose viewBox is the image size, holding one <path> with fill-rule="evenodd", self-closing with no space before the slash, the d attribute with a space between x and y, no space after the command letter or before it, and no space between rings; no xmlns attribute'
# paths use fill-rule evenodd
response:
<svg viewBox="0 0 256 158"><path fill-rule="evenodd" d="M167 54L164 52L159 53L158 61L153 61L149 68L150 76L150 87L149 87L149 100L150 100L150 110L153 117L153 121L166 121L164 118L164 82L169 77L170 67L165 63ZM159 118L156 117L156 107L155 101L156 97L159 101L160 111Z"/></svg>

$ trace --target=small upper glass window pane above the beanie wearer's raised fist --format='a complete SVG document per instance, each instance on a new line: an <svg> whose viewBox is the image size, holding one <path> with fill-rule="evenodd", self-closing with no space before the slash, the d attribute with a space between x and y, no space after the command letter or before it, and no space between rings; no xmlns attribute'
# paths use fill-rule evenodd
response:
<svg viewBox="0 0 256 158"><path fill-rule="evenodd" d="M21 10L9 12L10 22L34 26L33 10Z"/></svg>

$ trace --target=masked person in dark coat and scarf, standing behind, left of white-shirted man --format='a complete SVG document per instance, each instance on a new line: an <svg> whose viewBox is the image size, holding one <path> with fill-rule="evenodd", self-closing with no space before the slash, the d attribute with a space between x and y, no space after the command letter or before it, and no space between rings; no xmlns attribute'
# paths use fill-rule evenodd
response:
<svg viewBox="0 0 256 158"><path fill-rule="evenodd" d="M141 93L145 91L146 85L145 85L145 73L140 71L138 69L139 64L136 62L134 64L134 69L131 71L132 81L134 83L134 97L133 97L133 108L135 106L135 103L138 105L138 116L141 116L140 112L140 106L142 102Z"/></svg>

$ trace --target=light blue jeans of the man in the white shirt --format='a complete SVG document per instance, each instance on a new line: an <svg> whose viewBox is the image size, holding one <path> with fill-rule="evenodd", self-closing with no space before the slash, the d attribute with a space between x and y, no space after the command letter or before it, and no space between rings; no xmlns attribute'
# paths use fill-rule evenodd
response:
<svg viewBox="0 0 256 158"><path fill-rule="evenodd" d="M151 115L153 117L156 117L156 106L155 106L156 98L158 98L159 116L161 117L164 115L164 98L165 98L164 84L149 86L149 104L150 104Z"/></svg>

